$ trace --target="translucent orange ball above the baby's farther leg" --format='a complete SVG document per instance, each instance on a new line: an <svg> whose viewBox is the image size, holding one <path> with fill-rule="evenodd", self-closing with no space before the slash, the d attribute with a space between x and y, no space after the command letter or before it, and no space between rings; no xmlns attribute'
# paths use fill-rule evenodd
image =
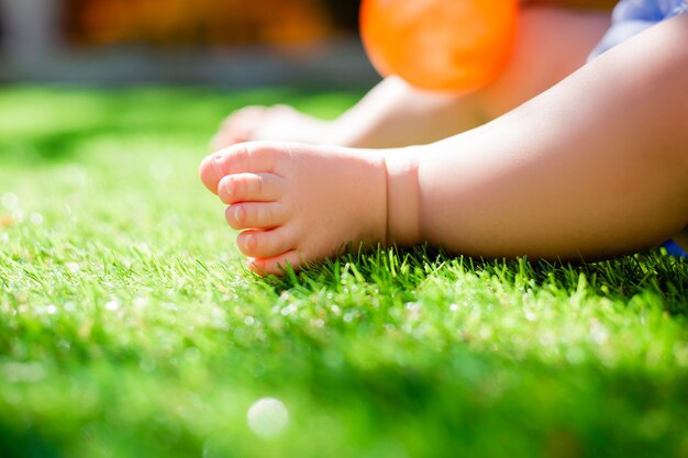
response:
<svg viewBox="0 0 688 458"><path fill-rule="evenodd" d="M518 0L364 0L360 31L373 65L430 90L467 92L507 65Z"/></svg>

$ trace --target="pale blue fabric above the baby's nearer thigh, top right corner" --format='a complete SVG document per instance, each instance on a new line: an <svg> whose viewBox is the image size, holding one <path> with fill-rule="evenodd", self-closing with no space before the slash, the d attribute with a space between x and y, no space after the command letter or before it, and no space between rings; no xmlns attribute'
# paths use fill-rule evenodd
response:
<svg viewBox="0 0 688 458"><path fill-rule="evenodd" d="M611 27L588 60L657 22L685 12L688 12L688 0L621 0L612 13Z"/></svg>

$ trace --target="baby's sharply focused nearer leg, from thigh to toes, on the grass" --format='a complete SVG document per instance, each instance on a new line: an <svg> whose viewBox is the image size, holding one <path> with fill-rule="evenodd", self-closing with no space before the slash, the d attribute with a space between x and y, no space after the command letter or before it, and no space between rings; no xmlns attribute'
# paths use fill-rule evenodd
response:
<svg viewBox="0 0 688 458"><path fill-rule="evenodd" d="M688 225L688 14L486 125L426 146L244 144L206 159L258 272L344 244L592 259Z"/></svg>

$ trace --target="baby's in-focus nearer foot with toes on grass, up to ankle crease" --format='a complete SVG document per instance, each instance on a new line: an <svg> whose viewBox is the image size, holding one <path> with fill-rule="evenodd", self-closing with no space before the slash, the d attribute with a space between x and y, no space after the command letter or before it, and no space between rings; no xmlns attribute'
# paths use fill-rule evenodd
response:
<svg viewBox="0 0 688 458"><path fill-rule="evenodd" d="M243 231L238 249L257 273L384 243L387 171L381 154L301 144L247 143L206 158L203 183Z"/></svg>

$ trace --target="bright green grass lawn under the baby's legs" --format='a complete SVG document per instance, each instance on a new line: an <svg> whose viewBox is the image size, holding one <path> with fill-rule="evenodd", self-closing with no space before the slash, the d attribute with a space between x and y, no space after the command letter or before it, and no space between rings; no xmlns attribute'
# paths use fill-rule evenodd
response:
<svg viewBox="0 0 688 458"><path fill-rule="evenodd" d="M220 119L357 96L0 91L0 456L688 457L686 260L242 267Z"/></svg>

